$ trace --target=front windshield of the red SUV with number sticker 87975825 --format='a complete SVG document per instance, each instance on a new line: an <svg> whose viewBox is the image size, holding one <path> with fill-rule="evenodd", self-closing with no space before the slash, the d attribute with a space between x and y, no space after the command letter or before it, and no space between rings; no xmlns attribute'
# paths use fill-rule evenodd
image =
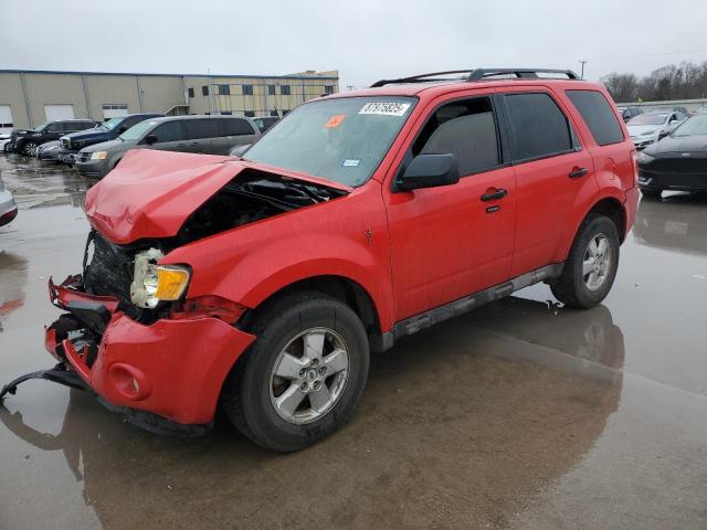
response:
<svg viewBox="0 0 707 530"><path fill-rule="evenodd" d="M361 186L410 116L412 97L319 99L275 124L243 158Z"/></svg>

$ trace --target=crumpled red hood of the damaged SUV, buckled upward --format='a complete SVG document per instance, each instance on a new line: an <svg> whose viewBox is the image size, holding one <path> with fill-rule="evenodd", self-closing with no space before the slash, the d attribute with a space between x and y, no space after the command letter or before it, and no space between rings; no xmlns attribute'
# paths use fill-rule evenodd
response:
<svg viewBox="0 0 707 530"><path fill-rule="evenodd" d="M171 237L194 210L244 169L351 190L328 180L232 157L135 149L88 190L86 216L94 229L117 244Z"/></svg>

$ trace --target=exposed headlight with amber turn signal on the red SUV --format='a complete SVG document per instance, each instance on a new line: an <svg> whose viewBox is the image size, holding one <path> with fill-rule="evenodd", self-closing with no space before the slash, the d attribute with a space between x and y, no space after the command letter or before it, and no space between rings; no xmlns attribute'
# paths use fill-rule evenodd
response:
<svg viewBox="0 0 707 530"><path fill-rule="evenodd" d="M161 300L178 300L189 285L189 268L180 265L157 265L163 254L157 248L135 256L130 284L130 300L138 307L154 309Z"/></svg>

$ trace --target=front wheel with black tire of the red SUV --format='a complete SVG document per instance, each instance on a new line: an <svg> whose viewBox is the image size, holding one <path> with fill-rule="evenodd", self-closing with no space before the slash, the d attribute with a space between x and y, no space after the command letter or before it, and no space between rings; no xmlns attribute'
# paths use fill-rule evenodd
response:
<svg viewBox="0 0 707 530"><path fill-rule="evenodd" d="M314 292L286 296L258 310L249 331L257 338L229 374L221 393L221 409L242 434L263 447L289 453L315 444L346 423L361 396L369 367L366 329L348 306ZM305 350L317 348L304 344L317 342L319 336L323 354L315 364L316 353L307 357ZM284 368L288 365L285 349L291 353L288 359L297 361L289 362L294 369ZM331 359L338 352L341 360L341 350L347 353L348 368L336 371L340 363L336 367ZM313 370L323 379L314 380ZM277 375L284 372L287 379ZM306 393L300 392L304 384L309 384ZM319 390L315 390L317 384ZM327 406L320 401L323 406L317 407L315 402L321 400L325 389L330 401ZM288 395L295 403L300 394L305 398L294 412L278 406Z"/></svg>

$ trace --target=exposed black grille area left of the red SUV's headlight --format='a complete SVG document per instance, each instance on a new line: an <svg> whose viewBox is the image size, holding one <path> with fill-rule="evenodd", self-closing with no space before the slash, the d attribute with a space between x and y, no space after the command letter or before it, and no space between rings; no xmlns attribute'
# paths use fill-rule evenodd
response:
<svg viewBox="0 0 707 530"><path fill-rule="evenodd" d="M89 295L115 296L118 308L128 315L139 316L140 309L130 301L133 256L93 231L86 242L84 255L84 287Z"/></svg>

